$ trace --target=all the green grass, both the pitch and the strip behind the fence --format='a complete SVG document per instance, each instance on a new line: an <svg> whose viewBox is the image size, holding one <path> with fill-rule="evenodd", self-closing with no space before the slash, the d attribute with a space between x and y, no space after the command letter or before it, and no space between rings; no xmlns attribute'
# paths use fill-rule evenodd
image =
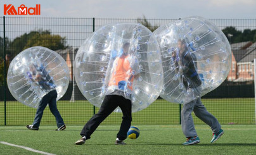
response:
<svg viewBox="0 0 256 155"><path fill-rule="evenodd" d="M182 146L186 139L179 125L179 104L161 99L132 114L132 125L139 127L141 135L136 140L125 140L126 146L114 145L121 113L112 113L85 145L75 146L82 125L93 116L93 106L87 101L58 101L58 109L67 125L61 132L54 131L55 120L49 108L44 111L39 131L27 130L25 125L32 123L36 109L20 102L7 102L6 126L3 126L4 104L0 102L0 154L39 154L5 142L48 152L46 154L255 154L253 98L202 99L202 102L220 121L225 133L210 144L210 128L193 115L201 140L194 146Z"/></svg>

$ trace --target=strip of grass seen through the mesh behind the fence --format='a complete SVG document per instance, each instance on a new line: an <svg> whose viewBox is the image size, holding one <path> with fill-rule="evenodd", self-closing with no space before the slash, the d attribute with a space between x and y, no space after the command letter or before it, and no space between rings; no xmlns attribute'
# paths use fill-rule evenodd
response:
<svg viewBox="0 0 256 155"><path fill-rule="evenodd" d="M221 124L255 124L254 98L202 99L203 104ZM58 109L67 125L84 125L93 116L93 106L87 101L58 101ZM36 109L20 102L6 103L6 125L28 125L34 120ZM98 108L96 108L96 112ZM121 113L112 113L101 125L119 125ZM195 124L204 124L198 118ZM153 102L148 108L132 114L134 125L179 125L179 104L163 99ZM4 102L0 102L0 125L4 125ZM44 110L41 125L55 125L49 108Z"/></svg>

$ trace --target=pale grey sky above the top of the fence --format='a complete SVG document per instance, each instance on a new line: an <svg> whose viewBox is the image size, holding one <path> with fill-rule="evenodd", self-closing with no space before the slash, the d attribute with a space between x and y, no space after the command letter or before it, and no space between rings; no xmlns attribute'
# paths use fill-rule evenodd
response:
<svg viewBox="0 0 256 155"><path fill-rule="evenodd" d="M41 17L176 19L203 16L208 19L255 19L256 0L1 0L28 8L41 4ZM8 16L8 15L7 15Z"/></svg>

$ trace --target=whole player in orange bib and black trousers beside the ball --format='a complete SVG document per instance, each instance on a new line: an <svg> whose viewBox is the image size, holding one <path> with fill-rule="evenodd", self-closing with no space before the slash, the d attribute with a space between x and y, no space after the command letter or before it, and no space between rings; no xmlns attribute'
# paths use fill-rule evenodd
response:
<svg viewBox="0 0 256 155"><path fill-rule="evenodd" d="M120 125L120 130L117 133L116 145L124 145L124 140L127 138L127 132L131 127L132 121L132 102L131 94L132 82L134 78L139 76L138 59L132 54L129 42L126 42L117 56L112 57L113 61L112 75L108 82L108 90L106 96L99 108L98 113L87 121L84 128L80 132L81 139L75 142L76 145L82 145L99 126L117 107L122 110L123 117ZM127 90L127 91L126 91Z"/></svg>

